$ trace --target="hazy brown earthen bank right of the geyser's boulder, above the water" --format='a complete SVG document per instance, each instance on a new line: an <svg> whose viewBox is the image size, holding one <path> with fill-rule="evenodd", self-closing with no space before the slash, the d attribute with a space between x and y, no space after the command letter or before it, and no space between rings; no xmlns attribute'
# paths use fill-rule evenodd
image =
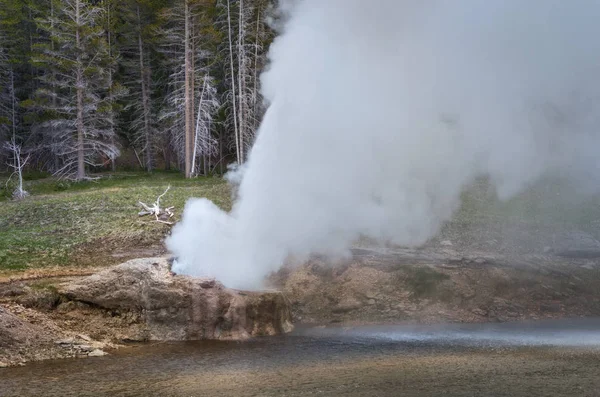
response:
<svg viewBox="0 0 600 397"><path fill-rule="evenodd" d="M600 260L354 250L271 277L303 323L504 322L600 316Z"/></svg>

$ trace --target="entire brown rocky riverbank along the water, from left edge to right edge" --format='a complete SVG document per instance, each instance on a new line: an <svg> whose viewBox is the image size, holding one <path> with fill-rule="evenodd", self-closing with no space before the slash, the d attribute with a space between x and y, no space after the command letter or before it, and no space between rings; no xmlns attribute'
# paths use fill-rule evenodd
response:
<svg viewBox="0 0 600 397"><path fill-rule="evenodd" d="M468 240L476 241L476 240ZM600 243L502 252L440 240L313 258L242 292L177 276L164 258L87 277L0 283L0 366L102 354L128 342L240 340L305 324L478 323L600 317ZM592 241L593 244L590 243Z"/></svg>

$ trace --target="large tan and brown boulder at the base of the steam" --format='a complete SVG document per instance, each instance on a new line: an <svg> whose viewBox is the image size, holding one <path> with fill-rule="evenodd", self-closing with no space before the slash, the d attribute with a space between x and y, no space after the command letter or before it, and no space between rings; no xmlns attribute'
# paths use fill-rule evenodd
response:
<svg viewBox="0 0 600 397"><path fill-rule="evenodd" d="M243 292L214 279L174 275L166 258L134 259L61 285L59 293L142 323L139 340L240 340L291 331L280 292Z"/></svg>

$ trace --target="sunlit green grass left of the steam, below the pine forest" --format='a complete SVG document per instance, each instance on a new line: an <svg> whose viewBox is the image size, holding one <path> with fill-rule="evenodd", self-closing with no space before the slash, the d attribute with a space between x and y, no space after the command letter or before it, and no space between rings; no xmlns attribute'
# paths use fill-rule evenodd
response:
<svg viewBox="0 0 600 397"><path fill-rule="evenodd" d="M175 206L176 220L191 197L206 197L225 209L231 206L229 188L220 178L120 173L80 183L26 181L31 197L0 202L0 271L74 265L83 259L91 263L95 250L106 255L160 243L169 226L139 217L137 202L152 204L169 185L161 205ZM101 261L99 255L98 264Z"/></svg>

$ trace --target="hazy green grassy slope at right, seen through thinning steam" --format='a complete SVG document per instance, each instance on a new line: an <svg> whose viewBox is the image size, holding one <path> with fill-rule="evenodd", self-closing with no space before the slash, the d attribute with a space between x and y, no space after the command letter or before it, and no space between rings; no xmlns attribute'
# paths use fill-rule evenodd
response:
<svg viewBox="0 0 600 397"><path fill-rule="evenodd" d="M553 236L583 231L600 239L600 196L558 180L543 180L507 201L485 180L465 190L462 205L442 237L464 242L492 240L515 252L550 245ZM561 237L556 237L560 239ZM491 244L494 246L494 243Z"/></svg>

